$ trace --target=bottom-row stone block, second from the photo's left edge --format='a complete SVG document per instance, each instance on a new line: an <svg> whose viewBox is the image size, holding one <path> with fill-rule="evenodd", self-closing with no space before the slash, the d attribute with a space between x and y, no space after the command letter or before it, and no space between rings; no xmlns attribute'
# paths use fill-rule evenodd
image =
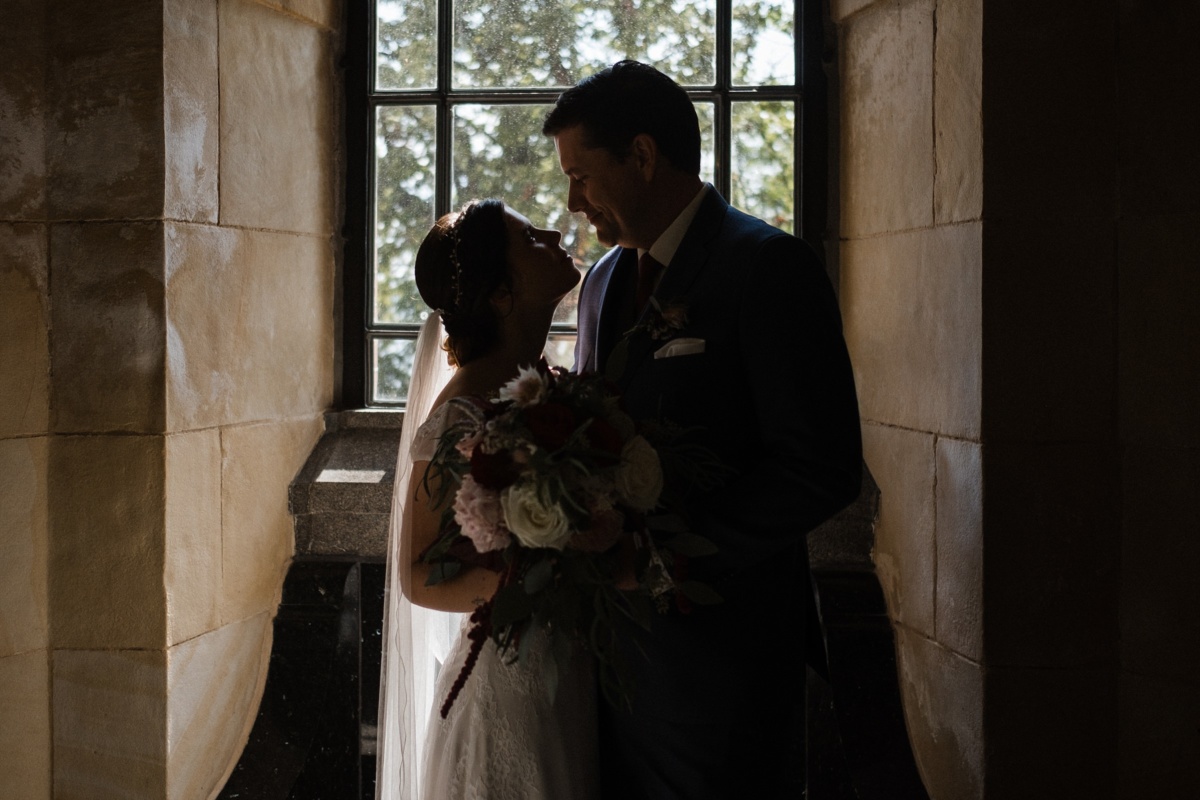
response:
<svg viewBox="0 0 1200 800"><path fill-rule="evenodd" d="M167 796L166 730L164 651L54 654L56 800Z"/></svg>

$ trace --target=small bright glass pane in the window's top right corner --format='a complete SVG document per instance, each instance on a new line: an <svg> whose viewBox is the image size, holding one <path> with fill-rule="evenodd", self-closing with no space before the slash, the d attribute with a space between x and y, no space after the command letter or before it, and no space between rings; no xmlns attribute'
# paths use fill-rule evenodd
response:
<svg viewBox="0 0 1200 800"><path fill-rule="evenodd" d="M796 83L794 0L733 0L733 83Z"/></svg>

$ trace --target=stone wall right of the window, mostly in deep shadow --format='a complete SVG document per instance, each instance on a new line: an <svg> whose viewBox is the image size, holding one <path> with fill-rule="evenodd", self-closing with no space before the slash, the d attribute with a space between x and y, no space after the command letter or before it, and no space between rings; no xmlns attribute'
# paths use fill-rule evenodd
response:
<svg viewBox="0 0 1200 800"><path fill-rule="evenodd" d="M1182 5L833 4L874 558L936 800L1200 790Z"/></svg>

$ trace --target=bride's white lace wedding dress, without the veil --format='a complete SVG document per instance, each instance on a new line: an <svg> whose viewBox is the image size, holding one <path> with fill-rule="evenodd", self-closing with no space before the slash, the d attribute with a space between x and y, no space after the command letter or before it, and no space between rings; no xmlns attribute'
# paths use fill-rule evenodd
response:
<svg viewBox="0 0 1200 800"><path fill-rule="evenodd" d="M462 407L446 403L422 425L413 461L430 461ZM582 651L559 669L550 639L529 632L521 660L488 639L448 716L442 704L470 649L464 621L438 670L425 742L421 800L592 800L596 772L596 687ZM557 688L550 674L557 675Z"/></svg>

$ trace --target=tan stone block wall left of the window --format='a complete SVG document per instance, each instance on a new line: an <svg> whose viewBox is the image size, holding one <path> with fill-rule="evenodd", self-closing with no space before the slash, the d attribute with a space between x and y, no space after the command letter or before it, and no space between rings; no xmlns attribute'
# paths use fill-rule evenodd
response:
<svg viewBox="0 0 1200 800"><path fill-rule="evenodd" d="M209 796L332 401L338 4L0 14L0 796Z"/></svg>

